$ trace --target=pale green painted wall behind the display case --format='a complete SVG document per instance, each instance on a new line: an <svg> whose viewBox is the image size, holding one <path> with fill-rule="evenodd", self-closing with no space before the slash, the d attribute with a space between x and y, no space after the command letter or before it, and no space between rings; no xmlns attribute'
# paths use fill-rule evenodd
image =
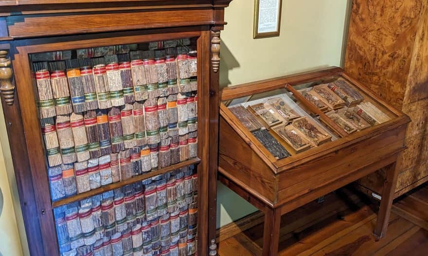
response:
<svg viewBox="0 0 428 256"><path fill-rule="evenodd" d="M281 34L253 39L253 0L233 0L221 33L220 85L340 66L350 0L283 0ZM218 185L217 227L256 209Z"/></svg>

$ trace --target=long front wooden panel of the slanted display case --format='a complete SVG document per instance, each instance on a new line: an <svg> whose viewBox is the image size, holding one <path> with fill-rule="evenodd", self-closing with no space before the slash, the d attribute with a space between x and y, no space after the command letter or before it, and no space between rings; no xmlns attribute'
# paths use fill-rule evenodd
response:
<svg viewBox="0 0 428 256"><path fill-rule="evenodd" d="M285 171L280 174L278 202L290 201L312 190L328 187L342 177L396 154L403 147L405 131L406 126L401 126Z"/></svg>

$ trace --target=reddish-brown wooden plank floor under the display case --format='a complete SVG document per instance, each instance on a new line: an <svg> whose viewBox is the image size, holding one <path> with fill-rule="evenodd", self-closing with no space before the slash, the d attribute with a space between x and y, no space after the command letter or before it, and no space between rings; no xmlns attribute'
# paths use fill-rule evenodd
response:
<svg viewBox="0 0 428 256"><path fill-rule="evenodd" d="M342 188L281 219L280 256L428 256L428 184L394 202L385 238L375 241L377 206ZM263 222L218 244L219 256L261 256Z"/></svg>

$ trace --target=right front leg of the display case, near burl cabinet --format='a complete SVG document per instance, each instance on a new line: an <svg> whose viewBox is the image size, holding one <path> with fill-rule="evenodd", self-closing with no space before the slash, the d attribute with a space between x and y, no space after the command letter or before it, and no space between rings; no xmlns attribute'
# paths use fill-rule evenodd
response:
<svg viewBox="0 0 428 256"><path fill-rule="evenodd" d="M394 190L395 185L397 184L398 177L398 170L396 170L396 162L386 167L385 175L386 177L382 189L382 199L380 201L380 208L377 214L377 223L375 227L376 240L383 238L388 228L392 200L394 199Z"/></svg>

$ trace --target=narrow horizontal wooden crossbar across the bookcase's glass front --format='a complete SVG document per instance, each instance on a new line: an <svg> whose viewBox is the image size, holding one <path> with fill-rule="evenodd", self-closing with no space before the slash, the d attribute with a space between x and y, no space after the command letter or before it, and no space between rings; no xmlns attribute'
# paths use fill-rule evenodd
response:
<svg viewBox="0 0 428 256"><path fill-rule="evenodd" d="M132 178L130 178L128 180L124 180L124 181L121 181L121 182L108 184L108 185L100 187L100 188L95 188L95 189L89 190L88 192L84 192L84 193L81 193L81 194L73 195L71 197L67 197L67 198L55 201L55 202L52 203L52 207L54 208L54 207L58 207L58 206L61 206L61 205L66 205L66 204L70 204L70 203L73 203L73 202L76 202L76 201L80 201L82 199L85 199L85 198L88 198L88 197L91 197L91 196L94 196L94 195L98 195L98 194L101 194L101 193L104 193L106 191L110 191L110 190L113 190L113 189L116 189L116 188L121 188L123 186L129 185L129 184L133 184L135 182L142 181L142 180L151 178L153 176L157 176L157 175L166 173L168 171L173 171L173 170L185 167L185 166L197 164L200 161L201 160L198 157L196 157L196 158L193 158L193 159L190 159L190 160L187 160L187 161L175 164L175 165L171 165L171 166L169 166L167 168L162 168L162 169L159 169L157 171L150 171L150 172L147 172L147 173L144 173L144 174L132 177Z"/></svg>

